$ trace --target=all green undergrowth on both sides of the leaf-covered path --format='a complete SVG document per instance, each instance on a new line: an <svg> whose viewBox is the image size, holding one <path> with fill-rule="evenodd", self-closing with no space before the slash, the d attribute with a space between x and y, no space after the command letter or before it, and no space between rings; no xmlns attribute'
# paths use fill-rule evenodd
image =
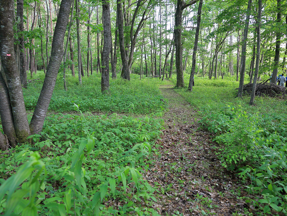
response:
<svg viewBox="0 0 287 216"><path fill-rule="evenodd" d="M43 72L33 78L24 90L28 113ZM69 76L66 92L59 77L43 131L30 137L32 144L0 152L0 214L158 215L152 205L160 187L142 174L153 163L154 141L163 129L168 101L158 86L166 83L132 74L129 82L110 80L110 91L102 94L100 79L83 78L81 86ZM188 79L185 74L185 84ZM286 214L286 101L263 96L249 106L249 96L235 97L237 86L235 77L195 77L191 93L175 91L198 111L202 128L218 143L221 165L244 186L238 190L249 193L234 195L259 215ZM204 198L196 196L196 202Z"/></svg>

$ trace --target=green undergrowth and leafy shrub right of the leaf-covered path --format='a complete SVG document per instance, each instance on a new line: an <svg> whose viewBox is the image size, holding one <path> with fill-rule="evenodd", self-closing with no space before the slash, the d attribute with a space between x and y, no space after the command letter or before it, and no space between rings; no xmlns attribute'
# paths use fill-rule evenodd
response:
<svg viewBox="0 0 287 216"><path fill-rule="evenodd" d="M175 89L197 110L202 128L213 134L218 158L237 172L253 197L245 201L259 214L287 212L287 116L284 96L236 98L239 82L233 77L209 80L195 77L193 91ZM248 76L245 80L249 81ZM188 75L185 76L188 84Z"/></svg>

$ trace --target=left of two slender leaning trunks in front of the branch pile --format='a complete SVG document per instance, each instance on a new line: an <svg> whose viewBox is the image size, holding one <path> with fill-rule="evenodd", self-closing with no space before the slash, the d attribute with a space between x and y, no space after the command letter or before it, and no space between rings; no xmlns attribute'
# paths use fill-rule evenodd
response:
<svg viewBox="0 0 287 216"><path fill-rule="evenodd" d="M248 26L249 26L249 18L250 18L250 11L251 11L251 2L252 0L248 0L247 6L247 14L245 20L245 28L243 34L243 45L241 50L241 64L240 64L240 81L239 81L239 88L237 97L242 97L243 85L244 85L244 74L245 74L245 63L246 63L246 44L247 44L247 35L248 35ZM257 60L256 60L257 61Z"/></svg>

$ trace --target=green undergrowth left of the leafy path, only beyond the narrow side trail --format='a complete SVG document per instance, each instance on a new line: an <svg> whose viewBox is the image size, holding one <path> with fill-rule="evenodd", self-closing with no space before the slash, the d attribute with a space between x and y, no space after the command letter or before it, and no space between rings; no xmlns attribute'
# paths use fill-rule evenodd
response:
<svg viewBox="0 0 287 216"><path fill-rule="evenodd" d="M110 78L110 90L107 94L102 94L100 74L82 77L82 85L79 85L77 77L67 76L68 91L63 89L61 76L62 74L59 73L49 105L51 111L68 112L75 103L82 111L146 114L161 112L165 106L158 89L162 83L158 79L140 80L135 74L131 74L131 81ZM39 71L33 77L33 79L36 78L40 80L28 83L28 88L23 90L25 105L29 110L33 110L37 104L44 73Z"/></svg>

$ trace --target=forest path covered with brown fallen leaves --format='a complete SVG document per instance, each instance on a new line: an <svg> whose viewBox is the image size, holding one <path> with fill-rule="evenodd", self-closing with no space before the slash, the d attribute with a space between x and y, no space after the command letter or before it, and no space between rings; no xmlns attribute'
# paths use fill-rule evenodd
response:
<svg viewBox="0 0 287 216"><path fill-rule="evenodd" d="M144 176L159 188L153 208L161 215L246 215L246 195L237 178L222 168L210 134L198 128L195 110L173 85L161 86L168 99L165 129L157 140L151 171ZM245 208L245 209L244 209Z"/></svg>

